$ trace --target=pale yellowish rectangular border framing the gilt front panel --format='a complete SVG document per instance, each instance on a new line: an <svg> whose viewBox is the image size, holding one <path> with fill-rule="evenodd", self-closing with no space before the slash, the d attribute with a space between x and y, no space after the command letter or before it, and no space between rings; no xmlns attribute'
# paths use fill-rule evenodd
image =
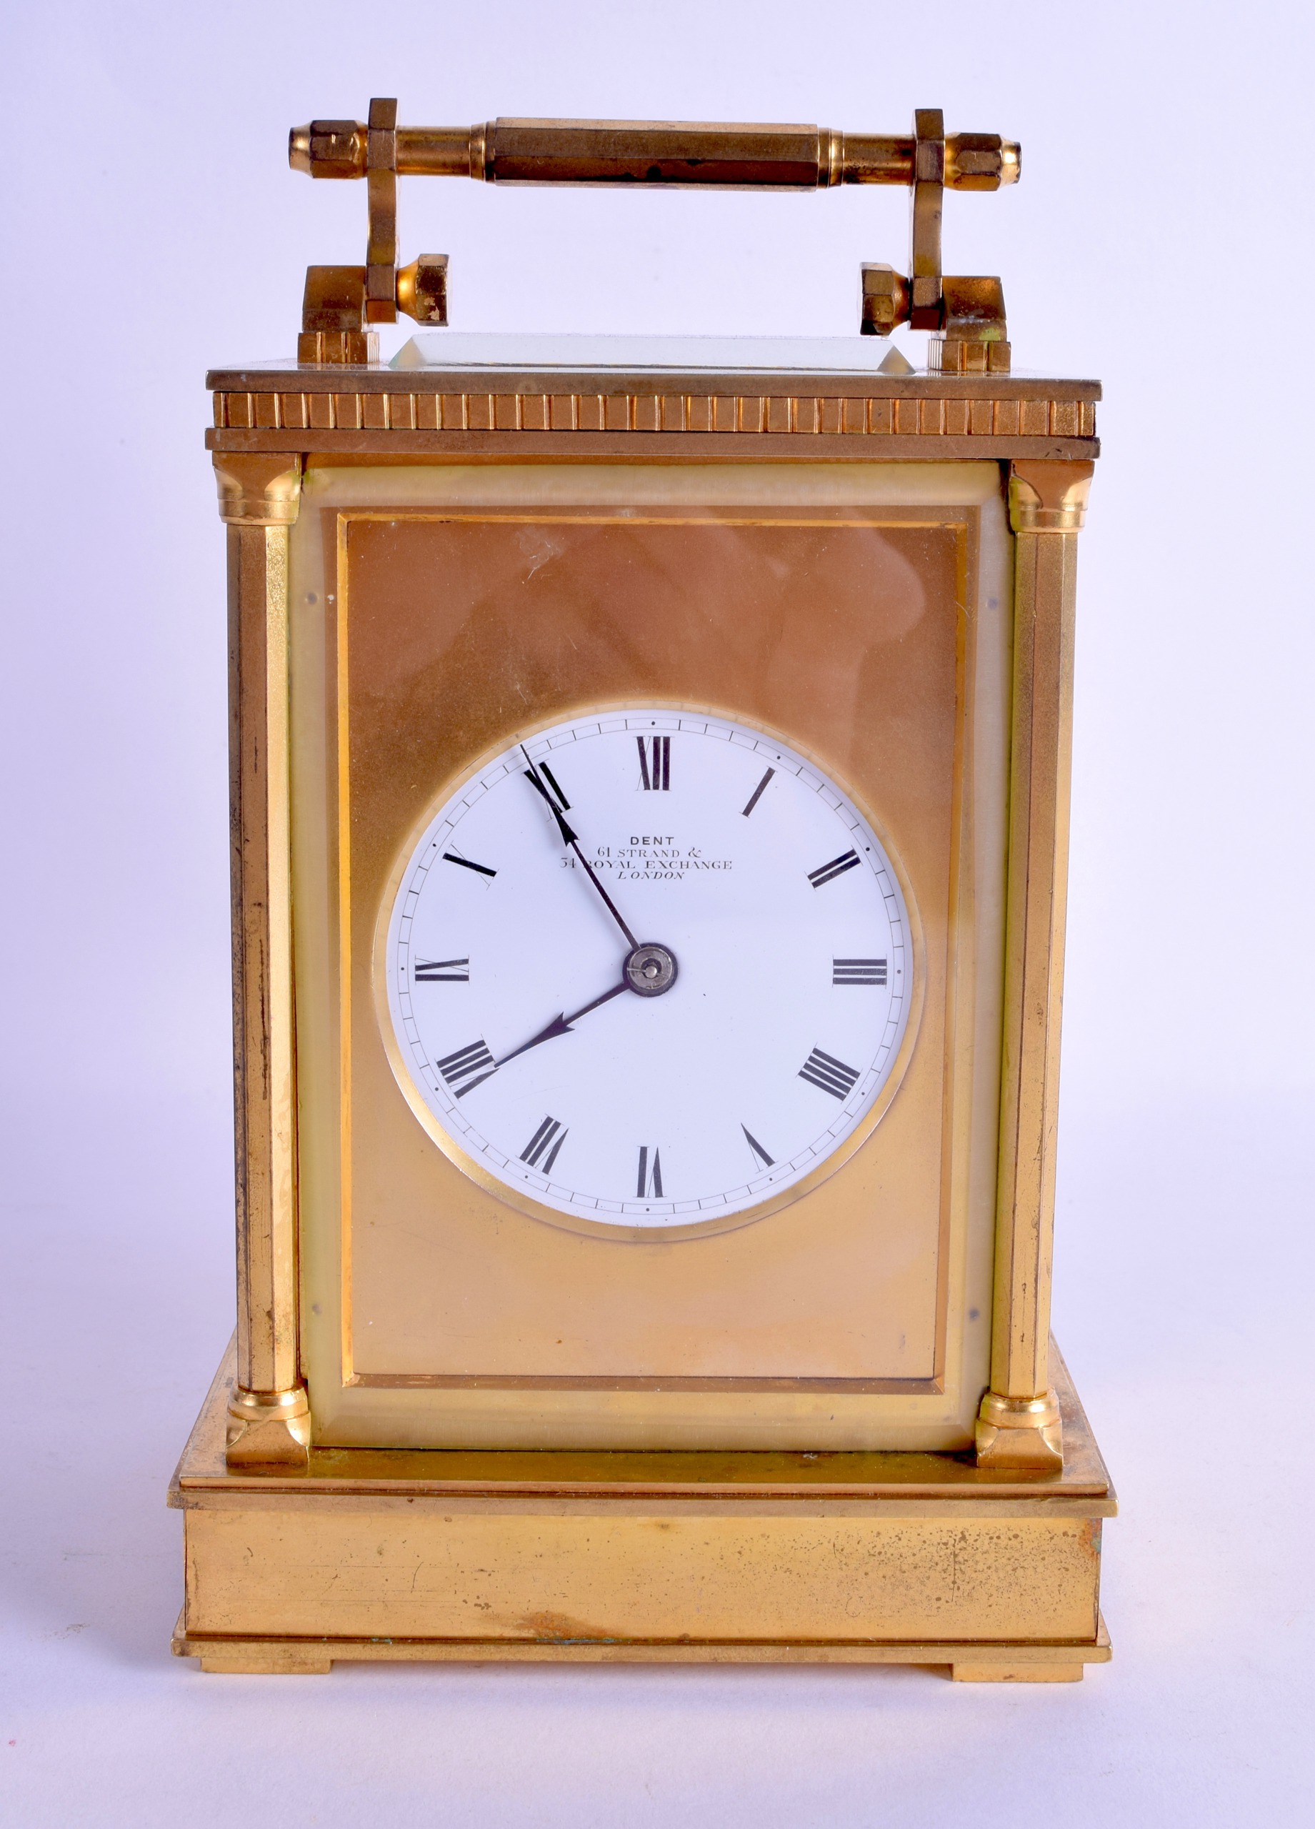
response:
<svg viewBox="0 0 1315 1829"><path fill-rule="evenodd" d="M700 487L691 479L690 468L679 470L660 466L556 466L563 501L576 505L580 512L582 496L587 488L600 488L607 483L613 496L620 490L631 505L642 497L642 479L647 474L651 485L668 499L679 497L680 490ZM715 476L717 499L726 499L726 490L741 488L750 503L763 503L772 494L788 499L790 492L816 499L818 492L830 485L841 499L850 505L865 503L863 512L896 521L944 521L962 527L968 536L986 510L991 523L991 558L988 571L993 572L993 594L1000 604L1000 618L1008 629L1008 567L1010 541L1000 512L1000 485L995 465L863 465L863 466L821 466L818 465L774 465L770 472L757 466L711 465L700 466L702 488ZM794 483L785 481L794 477ZM541 499L545 468L532 472L532 494ZM589 477L589 483L583 479ZM320 512L302 514L293 536L293 572L298 580L298 602L307 591L316 596L337 596L338 620L344 607L344 571L337 563L335 591L327 591L326 549L333 554L342 551L344 516L371 516L380 512L380 505L390 507L390 516L397 512L424 512L424 503L433 503L435 485L443 479L448 492L455 490L457 501L448 501L444 514L454 512L463 497L472 505L488 505L490 496L501 497L508 508L516 499L516 472L507 466L488 470L457 470L444 466L408 466L401 470L346 470L324 468L307 476L307 503ZM529 483L529 474L527 474ZM508 490L512 492L508 496ZM421 499L408 508L408 492ZM318 525L322 516L335 518L335 540L326 541ZM329 565L335 562L329 560ZM968 574L964 574L968 582ZM984 596L978 591L978 598ZM960 616L964 609L960 607ZM962 633L962 631L960 631ZM296 649L296 636L293 642ZM305 671L309 644L302 644L296 701L304 706L329 704L333 684L316 680ZM986 701L995 704L995 724L986 732L988 752L999 752L997 763L978 765L986 774L993 774L993 785L982 783L980 814L975 821L975 838L988 856L1004 850L1004 748L1006 735L1002 719L1006 717L1008 680L1004 677L1008 649L1000 647L995 657L995 675L986 690ZM342 732L344 699L337 695L338 739ZM733 713L730 713L733 715ZM313 722L313 719L311 719ZM305 735L305 732L304 732ZM326 732L327 735L327 732ZM797 737L786 732L788 741L797 744ZM296 755L296 744L294 744ZM825 766L825 759L819 757ZM960 759L962 766L962 759ZM304 911L315 913L324 902L324 871L329 869L327 856L307 856L307 845L315 850L315 840L307 834L316 830L313 805L305 803L305 783L324 779L318 757L309 754L298 765L294 761L294 779L304 786L298 790L296 830L302 847L298 863L296 900ZM342 775L338 772L338 788ZM346 821L346 796L338 805L338 821ZM995 829L991 821L997 821ZM1002 863L1000 863L1002 869ZM973 876L989 871L969 869ZM971 904L964 907L968 927L971 927ZM1002 911L1000 911L1002 918ZM997 924L995 936L986 935L986 953L1002 951L1002 931ZM340 1266L326 1266L327 1229L311 1225L302 1236L302 1278L307 1289L302 1321L302 1364L311 1374L316 1410L316 1438L340 1443L395 1441L399 1445L578 1445L578 1447L624 1447L624 1445L666 1445L693 1447L715 1443L719 1447L810 1447L821 1441L834 1447L889 1447L889 1449L964 1449L971 1443L971 1419L977 1401L988 1381L986 1342L973 1350L958 1330L946 1322L949 1313L962 1317L973 1306L980 1311L989 1308L989 1229L995 1187L995 1061L999 1059L999 984L989 1008L984 1011L975 999L980 997L975 986L971 966L971 947L968 955L953 960L949 989L949 1015L955 1010L968 1010L975 1022L986 1024L977 1035L977 1044L964 1050L953 1044L953 1026L947 1022L946 1050L958 1077L953 1097L947 1101L955 1121L962 1127L964 1112L973 1114L975 1138L971 1150L958 1139L958 1147L947 1150L955 1163L957 1185L944 1203L942 1247L938 1262L938 1341L936 1363L931 1379L556 1379L556 1377L362 1377L353 1368L349 1317L342 1302L340 1275L347 1271L349 1240L342 1251ZM322 1185L324 1178L309 1174L305 1150L313 1125L307 1123L307 1105L318 1103L309 1086L318 1070L318 1063L333 1055L326 1050L327 1037L316 1033L313 1006L320 1000L322 977L316 964L315 947L307 953L305 935L298 942L298 997L302 1011L300 1024L300 1068L302 1068L302 1187ZM949 962L947 962L949 964ZM968 975L964 975L968 973ZM995 973L986 973L988 980ZM318 989L313 989L318 986ZM307 993L307 995L302 995ZM337 1033L337 1048L344 1043ZM977 1075L977 1085L969 1088L964 1075ZM329 1125L335 1147L351 1147L351 1125L340 1121L337 1110ZM977 1185L975 1209L977 1227L969 1238L968 1225L968 1160L973 1158L971 1174ZM318 1205L318 1202L316 1202ZM949 1224L951 1209L958 1213L955 1225ZM304 1220L305 1224L305 1220ZM335 1242L337 1249L337 1242ZM982 1332L982 1330L978 1330ZM679 1390L677 1390L679 1386ZM435 1401L437 1399L437 1401ZM679 1401L677 1401L679 1399ZM426 1419L424 1410L430 1416Z"/></svg>

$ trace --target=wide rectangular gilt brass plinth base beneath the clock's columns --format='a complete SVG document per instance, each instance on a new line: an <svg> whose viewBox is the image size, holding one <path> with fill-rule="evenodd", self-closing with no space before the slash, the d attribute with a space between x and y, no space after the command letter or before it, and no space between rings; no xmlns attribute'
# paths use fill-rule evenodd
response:
<svg viewBox="0 0 1315 1829"><path fill-rule="evenodd" d="M1074 1683L1105 1663L1116 1503L1055 1353L1064 1467L946 1454L313 1449L229 1472L232 1353L170 1487L174 1635L203 1670L335 1659L935 1664Z"/></svg>

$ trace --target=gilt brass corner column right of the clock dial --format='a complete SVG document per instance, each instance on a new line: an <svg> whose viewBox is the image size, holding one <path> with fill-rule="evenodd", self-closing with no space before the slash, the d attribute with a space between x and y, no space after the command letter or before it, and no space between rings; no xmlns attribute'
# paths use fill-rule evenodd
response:
<svg viewBox="0 0 1315 1829"><path fill-rule="evenodd" d="M1077 532L1094 465L1015 463L1013 713L991 1388L977 1461L1057 1472L1050 1386Z"/></svg>

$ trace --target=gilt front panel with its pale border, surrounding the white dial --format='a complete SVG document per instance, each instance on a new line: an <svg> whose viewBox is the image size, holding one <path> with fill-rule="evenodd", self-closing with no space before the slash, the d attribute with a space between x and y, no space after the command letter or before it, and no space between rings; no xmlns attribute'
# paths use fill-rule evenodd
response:
<svg viewBox="0 0 1315 1829"><path fill-rule="evenodd" d="M887 507L872 507L874 490ZM955 497L966 507L946 507ZM962 1317L988 1306L995 1174L999 979L977 958L1002 949L991 929L1008 699L1008 624L991 607L1008 604L999 472L313 470L296 540L304 1339L318 1439L839 1447L876 1430L883 1445L966 1447L988 1366L973 1346L973 1372L958 1342L984 1348L984 1321ZM540 552L552 554L547 571ZM768 574L763 594L755 580L766 589ZM682 576L702 580L693 596ZM770 644L786 642L779 660L746 668L764 642L763 605L785 615L799 585L783 580L803 576L810 589L825 580L834 649L816 653L785 622ZM717 618L699 607L708 593ZM966 618L957 605L977 607ZM432 796L512 726L651 699L657 662L638 635L653 618L668 631L664 697L693 699L697 682L702 702L733 701L825 757L894 827L935 924L924 1064L874 1143L770 1224L697 1246L563 1238L519 1220L505 1193L474 1185L437 1147L417 1149L371 973L390 872ZM335 658L344 629L346 675ZM872 642L880 664L863 658ZM838 697L838 677L849 693L865 680L863 715ZM883 744L913 728L914 704L920 735L894 768ZM958 735L957 717L968 719ZM337 940L326 927L335 876ZM955 1022L977 1044L951 1061L953 898ZM342 1006L338 982L351 989ZM880 1235L867 1222L878 1183ZM898 1244L907 1227L920 1242ZM699 1322L710 1295L713 1328Z"/></svg>

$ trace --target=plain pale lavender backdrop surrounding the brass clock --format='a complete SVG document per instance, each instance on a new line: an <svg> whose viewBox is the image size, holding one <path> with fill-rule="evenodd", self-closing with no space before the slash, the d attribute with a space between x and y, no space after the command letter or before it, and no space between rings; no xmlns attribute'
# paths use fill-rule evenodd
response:
<svg viewBox="0 0 1315 1829"><path fill-rule="evenodd" d="M1310 1734L1310 9L342 0L7 9L0 1811L24 1825L1269 1824ZM1000 128L951 198L1019 366L1107 384L1083 551L1055 1321L1119 1483L1117 1661L170 1661L165 1485L232 1319L208 362L289 353L364 187L289 124ZM843 335L905 205L402 185L463 329ZM911 340L916 342L916 340ZM390 344L391 348L391 344ZM1302 1511L1302 1507L1306 1507Z"/></svg>

